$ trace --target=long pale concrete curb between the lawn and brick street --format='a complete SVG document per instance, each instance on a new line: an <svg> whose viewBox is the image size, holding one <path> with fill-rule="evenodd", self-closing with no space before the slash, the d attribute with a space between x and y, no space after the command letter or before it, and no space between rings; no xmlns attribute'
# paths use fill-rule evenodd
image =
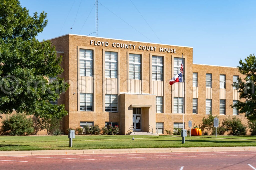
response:
<svg viewBox="0 0 256 170"><path fill-rule="evenodd" d="M219 151L256 151L256 147L134 148L134 149L0 151L0 156L110 154L110 153L114 154L114 153L219 152Z"/></svg>

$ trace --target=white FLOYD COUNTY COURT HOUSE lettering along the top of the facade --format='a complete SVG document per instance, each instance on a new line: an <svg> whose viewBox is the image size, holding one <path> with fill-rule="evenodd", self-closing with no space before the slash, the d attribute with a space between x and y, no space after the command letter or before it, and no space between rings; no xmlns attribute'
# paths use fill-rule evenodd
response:
<svg viewBox="0 0 256 170"><path fill-rule="evenodd" d="M90 41L90 45L97 45L97 46L105 46L107 47L109 45L106 41ZM112 47L115 48L124 48L124 49L135 49L136 45L134 44L124 44L124 43L113 43ZM156 47L153 46L138 46L139 50L147 50L147 51L156 51ZM159 52L167 52L167 53L176 53L176 48L163 48L159 47Z"/></svg>

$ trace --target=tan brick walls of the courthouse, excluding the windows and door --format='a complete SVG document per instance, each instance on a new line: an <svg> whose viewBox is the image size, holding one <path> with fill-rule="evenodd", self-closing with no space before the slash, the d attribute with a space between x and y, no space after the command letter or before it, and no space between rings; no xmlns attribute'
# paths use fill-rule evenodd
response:
<svg viewBox="0 0 256 170"><path fill-rule="evenodd" d="M101 43L98 43L98 41ZM182 58L182 53L184 53L185 59L185 128L188 129L187 122L189 120L193 122L193 125L199 125L202 118L206 116L206 93L208 93L206 91L206 73L212 74L212 88L210 89L212 93L210 94L212 98L212 113L219 115L219 100L222 95L221 98L224 97L226 99L226 115L219 115L220 121L227 116L233 116L232 108L229 105L232 104L234 95L232 87L233 75L241 76L238 69L193 64L192 47L74 34L53 38L51 42L56 46L58 55L63 56L61 66L64 72L61 77L64 77L65 81L70 84L69 89L58 100L59 104L65 104L65 108L69 113L63 121L64 130L68 127L76 128L80 126L80 122L93 122L94 125L98 124L99 127L104 127L105 122L118 122L121 134L127 134L133 125L133 107L142 108L142 131L148 131L148 127L151 126L153 127L153 133L156 133L156 122L163 123L164 130L173 130L174 123L182 123L182 114L174 113L173 108L174 97L182 97L180 96L182 94L182 83L175 83L170 86L169 80L174 76L174 58ZM108 42L108 46L105 46L105 42ZM124 45L122 46L122 44ZM93 50L92 77L81 77L79 75L80 49ZM105 77L105 51L116 52L118 55L117 79ZM141 80L129 79L129 54L141 55ZM163 81L152 80L152 56L163 57ZM196 91L193 88L193 72L198 73ZM219 88L220 74L226 75L226 89L221 92ZM93 111L79 110L79 94L82 93L83 89L89 90L93 94ZM118 112L105 111L105 93L118 95ZM157 95L163 99L163 113L156 113L155 111L155 96ZM197 114L192 113L192 100L195 97L198 98ZM243 123L246 123L246 118L243 115L237 116L243 120Z"/></svg>

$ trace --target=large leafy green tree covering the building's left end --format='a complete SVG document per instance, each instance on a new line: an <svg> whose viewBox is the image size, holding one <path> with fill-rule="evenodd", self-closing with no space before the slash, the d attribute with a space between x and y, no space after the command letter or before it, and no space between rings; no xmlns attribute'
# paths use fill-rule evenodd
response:
<svg viewBox="0 0 256 170"><path fill-rule="evenodd" d="M68 84L59 78L61 56L50 41L35 37L47 25L46 13L29 16L18 0L0 0L0 117L18 113L41 118L67 115L64 105L53 105ZM49 77L56 77L48 82Z"/></svg>

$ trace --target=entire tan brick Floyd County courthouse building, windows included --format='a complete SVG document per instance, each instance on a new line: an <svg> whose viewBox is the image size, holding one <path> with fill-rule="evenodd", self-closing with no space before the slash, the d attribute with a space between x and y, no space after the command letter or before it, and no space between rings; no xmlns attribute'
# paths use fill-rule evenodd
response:
<svg viewBox="0 0 256 170"><path fill-rule="evenodd" d="M164 134L188 121L244 115L230 107L239 99L232 87L242 76L235 67L193 64L193 48L93 36L67 34L50 39L62 55L61 77L70 87L57 104L68 115L63 129L118 125L121 134L141 131ZM184 53L184 107L182 83L169 85L179 73ZM207 56L205 56L207 57ZM220 62L221 63L221 62ZM135 128L135 129L134 129Z"/></svg>

